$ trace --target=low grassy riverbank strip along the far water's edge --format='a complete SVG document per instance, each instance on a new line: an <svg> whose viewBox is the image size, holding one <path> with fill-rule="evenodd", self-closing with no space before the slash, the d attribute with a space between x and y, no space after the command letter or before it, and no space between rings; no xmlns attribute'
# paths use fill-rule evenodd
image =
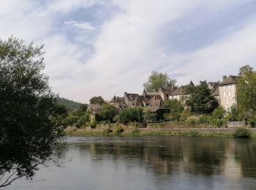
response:
<svg viewBox="0 0 256 190"><path fill-rule="evenodd" d="M105 129L64 129L66 135L101 136ZM124 129L124 132L109 135L122 136L183 136L183 137L234 137L236 129ZM249 129L256 138L256 129ZM105 133L106 134L106 133Z"/></svg>

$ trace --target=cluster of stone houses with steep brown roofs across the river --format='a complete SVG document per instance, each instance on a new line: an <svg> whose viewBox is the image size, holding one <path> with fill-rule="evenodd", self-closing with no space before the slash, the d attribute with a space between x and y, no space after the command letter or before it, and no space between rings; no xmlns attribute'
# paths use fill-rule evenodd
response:
<svg viewBox="0 0 256 190"><path fill-rule="evenodd" d="M236 81L237 76L223 76L222 82L210 82L208 88L211 89L211 96L214 96L219 105L225 107L225 110L230 110L233 104L237 104L236 100ZM192 81L187 86L195 86ZM113 96L110 100L117 109L121 110L127 107L146 107L151 112L157 112L158 110L165 109L164 102L167 99L178 99L181 101L181 97L184 96L184 89L187 86L179 87L165 87L159 88L159 91L148 93L145 90L142 95L124 93L124 96Z"/></svg>

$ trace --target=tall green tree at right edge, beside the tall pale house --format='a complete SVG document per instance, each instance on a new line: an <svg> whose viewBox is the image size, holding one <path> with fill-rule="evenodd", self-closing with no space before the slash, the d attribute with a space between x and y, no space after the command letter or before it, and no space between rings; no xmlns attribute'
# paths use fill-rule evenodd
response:
<svg viewBox="0 0 256 190"><path fill-rule="evenodd" d="M256 113L256 72L251 66L240 68L240 76L237 81L237 99L239 113Z"/></svg>

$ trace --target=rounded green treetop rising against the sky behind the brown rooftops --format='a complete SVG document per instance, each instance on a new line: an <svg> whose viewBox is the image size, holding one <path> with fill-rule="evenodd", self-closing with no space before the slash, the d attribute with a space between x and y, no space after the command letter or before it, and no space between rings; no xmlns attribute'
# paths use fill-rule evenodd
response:
<svg viewBox="0 0 256 190"><path fill-rule="evenodd" d="M154 92L159 91L159 88L163 88L165 86L175 86L176 82L176 80L170 79L166 73L163 74L161 72L153 71L148 77L148 82L144 83L143 86L146 91Z"/></svg>

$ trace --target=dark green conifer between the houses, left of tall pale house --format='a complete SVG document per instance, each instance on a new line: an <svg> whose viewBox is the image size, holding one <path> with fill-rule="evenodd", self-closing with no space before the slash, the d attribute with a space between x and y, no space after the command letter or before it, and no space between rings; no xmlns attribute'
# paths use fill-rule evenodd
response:
<svg viewBox="0 0 256 190"><path fill-rule="evenodd" d="M211 113L217 106L217 100L211 96L206 80L200 81L199 86L185 88L185 104L195 113Z"/></svg>

